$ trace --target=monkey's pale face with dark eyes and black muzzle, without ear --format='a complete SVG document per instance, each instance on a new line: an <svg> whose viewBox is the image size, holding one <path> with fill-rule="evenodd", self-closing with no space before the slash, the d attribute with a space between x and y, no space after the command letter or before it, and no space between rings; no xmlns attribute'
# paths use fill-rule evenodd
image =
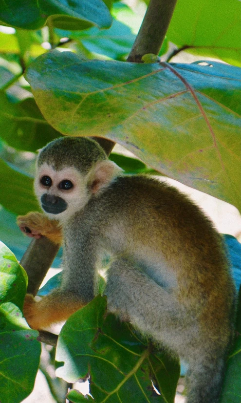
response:
<svg viewBox="0 0 241 403"><path fill-rule="evenodd" d="M74 167L56 171L44 163L37 170L35 193L39 204L49 218L61 222L81 210L90 198L87 178Z"/></svg>

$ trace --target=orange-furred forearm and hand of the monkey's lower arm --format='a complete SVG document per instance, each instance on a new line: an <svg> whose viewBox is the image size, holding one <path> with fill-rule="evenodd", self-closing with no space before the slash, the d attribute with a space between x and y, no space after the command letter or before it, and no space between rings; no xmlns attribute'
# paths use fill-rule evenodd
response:
<svg viewBox="0 0 241 403"><path fill-rule="evenodd" d="M52 323L68 319L79 308L82 308L79 298L71 293L57 289L51 294L35 301L31 294L24 300L23 316L33 329L41 330Z"/></svg>

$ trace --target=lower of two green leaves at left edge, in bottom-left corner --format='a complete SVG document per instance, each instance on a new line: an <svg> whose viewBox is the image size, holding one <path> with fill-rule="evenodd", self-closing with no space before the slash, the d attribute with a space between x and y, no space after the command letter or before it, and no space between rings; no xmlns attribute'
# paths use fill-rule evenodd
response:
<svg viewBox="0 0 241 403"><path fill-rule="evenodd" d="M38 332L12 302L0 305L0 401L19 403L33 390L41 353Z"/></svg>

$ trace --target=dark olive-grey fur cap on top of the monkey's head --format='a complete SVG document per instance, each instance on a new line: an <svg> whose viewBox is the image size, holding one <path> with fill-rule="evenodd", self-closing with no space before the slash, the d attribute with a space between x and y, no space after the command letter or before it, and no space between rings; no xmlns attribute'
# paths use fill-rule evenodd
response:
<svg viewBox="0 0 241 403"><path fill-rule="evenodd" d="M40 150L37 166L43 163L55 170L73 167L86 174L93 164L107 159L103 148L94 140L86 137L60 137Z"/></svg>

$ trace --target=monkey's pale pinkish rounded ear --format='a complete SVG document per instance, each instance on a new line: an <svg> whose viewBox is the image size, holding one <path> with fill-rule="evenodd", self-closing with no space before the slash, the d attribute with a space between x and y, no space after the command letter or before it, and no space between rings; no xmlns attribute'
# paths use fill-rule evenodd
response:
<svg viewBox="0 0 241 403"><path fill-rule="evenodd" d="M97 193L101 188L108 185L115 176L120 175L123 170L113 161L98 161L91 172L91 190Z"/></svg>

